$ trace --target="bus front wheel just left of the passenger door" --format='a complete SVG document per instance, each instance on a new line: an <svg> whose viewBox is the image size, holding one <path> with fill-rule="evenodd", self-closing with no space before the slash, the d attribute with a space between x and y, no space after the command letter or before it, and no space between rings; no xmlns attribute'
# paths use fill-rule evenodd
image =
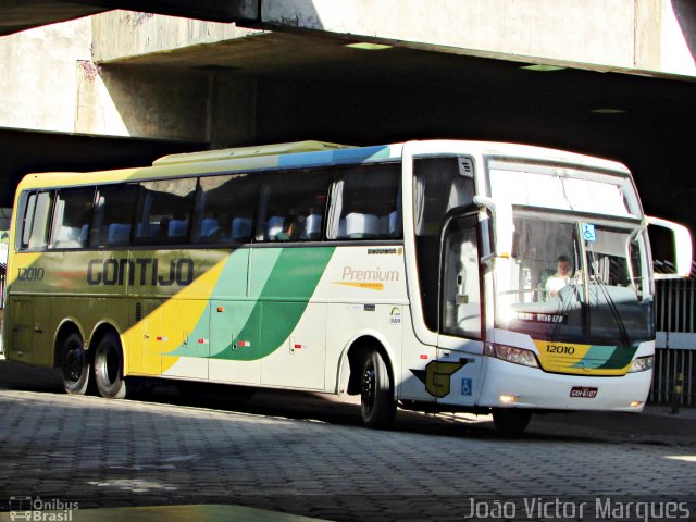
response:
<svg viewBox="0 0 696 522"><path fill-rule="evenodd" d="M396 402L389 372L376 350L365 355L360 383L362 423L368 427L386 427L394 421Z"/></svg>

